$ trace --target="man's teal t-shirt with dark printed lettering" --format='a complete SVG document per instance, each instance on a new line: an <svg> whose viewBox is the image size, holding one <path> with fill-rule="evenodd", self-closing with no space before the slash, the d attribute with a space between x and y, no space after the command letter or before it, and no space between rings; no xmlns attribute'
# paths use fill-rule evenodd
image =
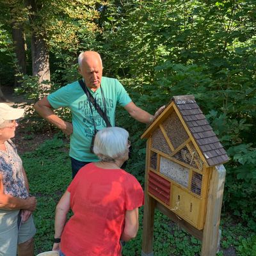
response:
<svg viewBox="0 0 256 256"><path fill-rule="evenodd" d="M111 125L115 126L116 104L124 107L132 100L117 79L102 77L101 88L104 93L108 119ZM100 108L105 111L100 88L95 92L92 90L90 92ZM105 128L106 123L92 104L91 111L87 96L78 81L51 93L47 100L52 108L67 107L72 113L73 133L70 136L70 157L84 162L99 161L98 157L90 152L94 132L93 118L98 131Z"/></svg>

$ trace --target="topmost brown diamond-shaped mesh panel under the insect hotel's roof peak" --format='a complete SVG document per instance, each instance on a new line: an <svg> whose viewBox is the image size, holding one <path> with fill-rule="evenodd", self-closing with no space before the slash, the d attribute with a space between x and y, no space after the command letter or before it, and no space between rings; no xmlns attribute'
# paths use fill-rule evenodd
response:
<svg viewBox="0 0 256 256"><path fill-rule="evenodd" d="M189 138L175 111L164 120L163 127L174 148L179 147Z"/></svg>

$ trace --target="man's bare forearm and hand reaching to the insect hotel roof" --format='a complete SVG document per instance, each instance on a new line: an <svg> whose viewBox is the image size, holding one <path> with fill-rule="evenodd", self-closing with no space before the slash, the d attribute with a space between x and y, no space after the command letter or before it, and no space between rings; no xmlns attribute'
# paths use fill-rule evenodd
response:
<svg viewBox="0 0 256 256"><path fill-rule="evenodd" d="M165 106L159 108L154 116L150 115L147 111L138 108L132 101L125 105L124 108L135 120L144 124L150 124L161 113L161 111L163 111Z"/></svg>

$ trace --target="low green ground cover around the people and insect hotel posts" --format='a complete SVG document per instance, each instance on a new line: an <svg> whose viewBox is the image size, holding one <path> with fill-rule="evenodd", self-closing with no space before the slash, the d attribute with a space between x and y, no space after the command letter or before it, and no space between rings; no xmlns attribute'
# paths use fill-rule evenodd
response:
<svg viewBox="0 0 256 256"><path fill-rule="evenodd" d="M45 141L35 151L22 155L28 174L30 193L37 198L34 220L35 254L51 250L54 237L55 207L71 182L68 145L59 138ZM135 150L135 149L134 149ZM129 166L127 168L129 171ZM136 239L125 244L123 255L141 255L143 207L140 209L140 230ZM256 256L256 235L231 214L221 216L221 250L218 256ZM201 243L161 212L154 216L154 256L200 255Z"/></svg>

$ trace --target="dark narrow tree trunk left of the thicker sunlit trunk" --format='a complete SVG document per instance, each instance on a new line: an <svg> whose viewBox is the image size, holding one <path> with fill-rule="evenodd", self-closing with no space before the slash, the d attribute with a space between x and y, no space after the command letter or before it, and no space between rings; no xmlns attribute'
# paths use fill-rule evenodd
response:
<svg viewBox="0 0 256 256"><path fill-rule="evenodd" d="M25 43L25 35L24 30L22 28L22 24L12 24L12 38L15 49L15 54L17 57L17 69L16 74L19 76L15 76L15 86L19 86L19 79L22 74L26 74L26 43Z"/></svg>

